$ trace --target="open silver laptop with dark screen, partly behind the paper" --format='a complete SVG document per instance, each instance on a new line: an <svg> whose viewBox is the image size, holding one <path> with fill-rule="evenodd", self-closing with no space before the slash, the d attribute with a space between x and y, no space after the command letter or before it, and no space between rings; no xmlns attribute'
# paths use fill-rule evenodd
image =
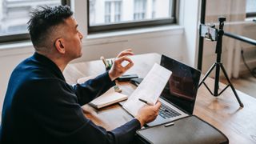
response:
<svg viewBox="0 0 256 144"><path fill-rule="evenodd" d="M161 66L172 74L160 95L162 102L158 117L147 126L172 122L193 114L201 72L172 58L162 55Z"/></svg>

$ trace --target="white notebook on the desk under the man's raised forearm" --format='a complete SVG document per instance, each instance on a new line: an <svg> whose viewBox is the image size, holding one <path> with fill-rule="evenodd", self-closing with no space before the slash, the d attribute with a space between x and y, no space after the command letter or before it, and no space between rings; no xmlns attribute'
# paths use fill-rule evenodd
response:
<svg viewBox="0 0 256 144"><path fill-rule="evenodd" d="M89 76L78 78L77 82L82 83L86 82L91 78L95 78L96 76ZM93 101L89 102L90 106L93 106L96 109L100 109L105 106L110 106L114 103L124 101L128 98L125 94L120 94L114 90L114 86L107 90L104 94L100 95L98 98L95 98Z"/></svg>

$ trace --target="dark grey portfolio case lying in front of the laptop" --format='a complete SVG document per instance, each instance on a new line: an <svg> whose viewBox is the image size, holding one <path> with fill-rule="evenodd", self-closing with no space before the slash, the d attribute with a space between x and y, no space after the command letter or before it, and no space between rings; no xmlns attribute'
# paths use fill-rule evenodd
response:
<svg viewBox="0 0 256 144"><path fill-rule="evenodd" d="M195 115L180 118L174 123L147 127L138 130L137 134L143 143L229 143L225 134Z"/></svg>

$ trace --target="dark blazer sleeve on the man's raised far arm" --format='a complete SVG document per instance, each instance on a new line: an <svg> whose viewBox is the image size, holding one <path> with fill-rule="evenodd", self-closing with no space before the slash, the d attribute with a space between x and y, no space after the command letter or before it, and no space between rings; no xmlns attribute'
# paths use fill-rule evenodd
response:
<svg viewBox="0 0 256 144"><path fill-rule="evenodd" d="M78 97L78 103L82 106L114 86L115 82L110 80L110 76L106 71L94 79L90 79L82 84L73 86L74 92Z"/></svg>

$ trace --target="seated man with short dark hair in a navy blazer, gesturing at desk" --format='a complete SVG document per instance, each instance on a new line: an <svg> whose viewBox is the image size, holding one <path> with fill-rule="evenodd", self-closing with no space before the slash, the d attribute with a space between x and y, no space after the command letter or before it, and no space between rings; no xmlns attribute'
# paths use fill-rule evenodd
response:
<svg viewBox="0 0 256 144"><path fill-rule="evenodd" d="M2 109L2 143L129 143L135 131L158 115L160 102L112 131L86 118L81 106L114 86L114 79L133 66L124 50L114 66L97 78L70 86L62 71L82 56L82 34L68 6L42 7L28 22L35 53L10 76ZM129 62L122 66L123 61Z"/></svg>

